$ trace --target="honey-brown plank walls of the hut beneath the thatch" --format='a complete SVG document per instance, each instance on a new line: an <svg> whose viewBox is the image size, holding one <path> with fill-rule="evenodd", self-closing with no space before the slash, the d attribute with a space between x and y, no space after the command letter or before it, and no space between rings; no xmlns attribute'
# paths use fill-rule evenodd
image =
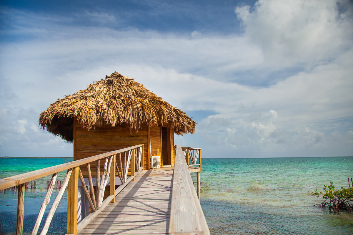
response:
<svg viewBox="0 0 353 235"><path fill-rule="evenodd" d="M112 128L110 126L102 126L95 128L95 130L86 131L82 126L74 120L74 140L73 140L73 157L74 160L91 157L101 153L106 153L113 150L131 147L137 144L144 144L144 169L150 169L149 157L149 130L148 126L143 126L137 134L131 134L130 129L126 126L118 126ZM161 141L161 127L150 127L150 141L151 141L151 156L162 157L162 141ZM173 129L168 128L168 136L170 137L170 155L171 164L174 166L174 132ZM101 173L103 171L103 163L101 161ZM162 167L162 159L161 165ZM92 174L95 174L96 164L91 163ZM85 169L82 169L84 177L86 177ZM129 172L130 174L130 172Z"/></svg>

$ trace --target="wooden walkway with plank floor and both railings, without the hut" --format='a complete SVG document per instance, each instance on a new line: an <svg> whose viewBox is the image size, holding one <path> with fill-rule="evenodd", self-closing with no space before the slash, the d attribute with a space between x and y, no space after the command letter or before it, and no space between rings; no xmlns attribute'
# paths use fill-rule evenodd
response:
<svg viewBox="0 0 353 235"><path fill-rule="evenodd" d="M199 172L201 164L195 164L197 156L194 149L184 150L175 146L174 167L142 170L143 144L125 149L88 157L85 159L65 163L58 166L0 179L0 190L18 185L18 214L16 235L22 235L24 212L24 185L46 175L53 174L51 184L39 212L32 235L38 234L39 224L50 195L52 194L58 172L67 170L66 177L49 211L44 228L40 231L45 235L56 207L68 184L67 234L98 235L98 234L195 234L208 235L209 228L199 204ZM192 152L193 151L193 152ZM201 149L196 149L201 158ZM192 165L189 165L189 155ZM124 166L121 155L125 156ZM127 158L126 158L127 157ZM186 162L186 158L188 162ZM82 177L81 169L90 169L90 163L104 160L104 170L97 167L97 185L94 186L91 172L89 188ZM131 161L130 161L131 160ZM108 163L109 162L109 163ZM201 163L201 159L199 159ZM136 167L136 171L135 171ZM119 168L121 171L119 172ZM119 174L122 183L115 186L115 172ZM193 186L190 172L197 173L197 192ZM128 177L130 173L130 177ZM110 176L110 178L109 178ZM80 179L82 186L78 186ZM110 182L110 185L106 185ZM78 221L78 188L82 187L89 200L91 213ZM108 195L104 196L104 191ZM105 200L103 200L105 198Z"/></svg>

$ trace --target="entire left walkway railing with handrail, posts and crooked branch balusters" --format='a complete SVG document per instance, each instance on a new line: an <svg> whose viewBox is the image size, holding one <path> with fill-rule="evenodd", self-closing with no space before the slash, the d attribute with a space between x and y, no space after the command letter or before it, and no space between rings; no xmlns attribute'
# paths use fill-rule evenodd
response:
<svg viewBox="0 0 353 235"><path fill-rule="evenodd" d="M48 232L49 225L52 222L52 218L59 205L60 199L64 194L66 186L68 185L68 197L67 197L67 233L77 234L82 230L86 224L88 224L109 202L115 202L115 195L118 194L122 188L126 186L131 180L134 180L136 173L143 168L143 144L124 148L120 150L111 151L108 153L99 154L85 159L56 165L37 171L32 171L24 174L15 175L0 179L0 190L10 188L18 185L18 203L17 203L17 227L16 235L21 235L23 231L23 218L24 218L24 187L25 183L31 180L46 177L52 174L52 180L50 181L48 191L44 197L41 209L39 211L36 223L32 230L32 235L37 235L39 225L42 221L44 212L53 188L55 185L56 177L61 171L66 171L64 183L62 184L58 195L56 196L52 207L48 213L44 227L40 235L45 235ZM104 159L103 172L100 173L100 160ZM119 166L116 160L119 160ZM91 174L90 163L96 162L96 192L94 190L94 184ZM130 165L131 162L131 165ZM86 183L83 178L81 168L85 166L89 181L89 192ZM127 177L129 167L131 166L131 177ZM136 170L135 170L136 167ZM115 172L118 173L121 185L115 188ZM78 179L80 179L81 187L83 188L84 194L89 201L92 212L86 216L82 221L77 223L77 206L78 206ZM109 181L109 196L103 201L104 190Z"/></svg>

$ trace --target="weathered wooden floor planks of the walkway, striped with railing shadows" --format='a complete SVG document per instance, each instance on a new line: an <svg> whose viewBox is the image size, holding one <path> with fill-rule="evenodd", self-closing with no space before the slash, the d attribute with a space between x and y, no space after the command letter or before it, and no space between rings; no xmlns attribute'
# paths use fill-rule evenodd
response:
<svg viewBox="0 0 353 235"><path fill-rule="evenodd" d="M173 169L140 172L80 235L168 234Z"/></svg>

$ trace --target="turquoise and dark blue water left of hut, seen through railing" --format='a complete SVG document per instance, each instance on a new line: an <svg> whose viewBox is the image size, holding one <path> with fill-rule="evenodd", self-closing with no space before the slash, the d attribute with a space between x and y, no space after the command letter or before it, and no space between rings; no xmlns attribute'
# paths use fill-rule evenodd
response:
<svg viewBox="0 0 353 235"><path fill-rule="evenodd" d="M73 161L73 158L35 158L35 157L1 157L0 158L0 179L12 175L35 171L50 166ZM66 172L60 172L56 180L64 180ZM47 181L52 175L37 179L37 188L25 189L24 204L24 234L31 234L41 208L43 199L47 193ZM54 202L59 190L53 190L50 203L43 216L39 231L43 228L45 218ZM16 211L17 211L17 189L0 191L0 234L16 233ZM67 191L60 200L53 222L49 227L48 234L66 234L67 218Z"/></svg>

